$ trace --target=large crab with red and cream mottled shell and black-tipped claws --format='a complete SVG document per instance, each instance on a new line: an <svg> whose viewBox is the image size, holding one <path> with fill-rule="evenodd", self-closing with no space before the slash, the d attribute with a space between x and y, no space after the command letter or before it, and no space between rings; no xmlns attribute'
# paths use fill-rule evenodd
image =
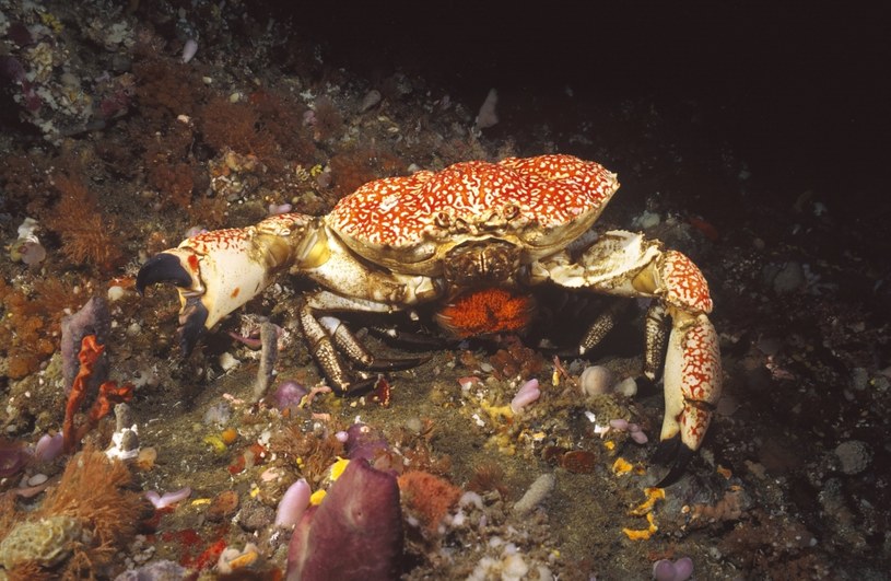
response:
<svg viewBox="0 0 891 581"><path fill-rule="evenodd" d="M644 373L663 372L666 410L657 460L676 480L702 444L720 396L712 299L700 269L657 240L628 231L585 240L619 188L602 165L565 154L497 163L469 161L365 184L327 216L285 213L256 225L206 232L150 258L137 289L171 282L180 299L180 344L188 353L207 329L262 292L282 271L309 279L298 319L332 386L356 387L351 368L397 369L420 360L382 360L338 313L413 312L434 304L455 337L520 332L530 325L530 289L550 283L579 292L652 298ZM667 319L670 318L670 332ZM596 319L579 346L591 349L611 326ZM352 362L344 364L343 357Z"/></svg>

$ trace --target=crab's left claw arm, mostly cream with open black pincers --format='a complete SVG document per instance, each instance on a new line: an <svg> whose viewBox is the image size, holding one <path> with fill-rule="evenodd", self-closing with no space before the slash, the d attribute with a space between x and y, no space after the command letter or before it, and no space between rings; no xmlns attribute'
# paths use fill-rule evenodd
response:
<svg viewBox="0 0 891 581"><path fill-rule="evenodd" d="M242 229L204 232L150 258L137 290L155 282L178 288L180 347L189 353L206 330L259 294L292 265L324 260L317 219L289 213Z"/></svg>

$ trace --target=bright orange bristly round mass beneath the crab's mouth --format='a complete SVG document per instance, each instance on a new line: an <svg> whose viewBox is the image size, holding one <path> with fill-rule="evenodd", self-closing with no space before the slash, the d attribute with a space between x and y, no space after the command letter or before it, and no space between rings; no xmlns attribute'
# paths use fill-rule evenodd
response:
<svg viewBox="0 0 891 581"><path fill-rule="evenodd" d="M516 333L526 328L534 300L505 289L481 289L458 295L436 319L457 337Z"/></svg>

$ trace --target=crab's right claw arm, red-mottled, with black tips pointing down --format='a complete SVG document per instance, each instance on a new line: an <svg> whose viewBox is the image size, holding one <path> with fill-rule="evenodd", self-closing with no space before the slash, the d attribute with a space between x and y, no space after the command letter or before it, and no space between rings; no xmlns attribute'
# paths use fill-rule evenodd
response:
<svg viewBox="0 0 891 581"><path fill-rule="evenodd" d="M654 377L667 338L664 388L665 418L657 462L671 464L658 486L683 474L702 445L720 398L722 369L718 337L707 314L712 311L708 284L700 269L677 251L663 251L642 234L610 231L576 262L559 253L532 265L532 282L551 280L567 288L621 297L652 297L647 312L645 373ZM599 340L602 334L594 334ZM593 345L583 345L581 351Z"/></svg>

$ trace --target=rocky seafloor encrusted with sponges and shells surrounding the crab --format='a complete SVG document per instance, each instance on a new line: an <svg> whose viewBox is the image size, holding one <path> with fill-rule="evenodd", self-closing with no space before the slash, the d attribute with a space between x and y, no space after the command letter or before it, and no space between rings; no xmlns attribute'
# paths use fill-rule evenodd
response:
<svg viewBox="0 0 891 581"><path fill-rule="evenodd" d="M556 85L484 104L484 79L471 102L437 71L353 70L303 34L324 8L297 16L0 0L0 578L279 579L285 490L332 490L351 454L398 476L399 518L317 539L318 579L345 556L390 559L388 535L390 574L407 580L888 578L887 201L852 211L837 185L759 174L714 129L715 103ZM185 359L174 290L136 290L149 257L202 229L321 214L378 177L553 152L619 173L596 229L643 231L710 281L724 397L664 493L638 302L542 290L527 335L486 341L348 316L375 353L427 360L344 398L301 338L305 282L281 276ZM574 355L576 323L607 309L620 327ZM67 414L89 367L72 321L105 352ZM268 322L273 363L257 348ZM96 395L101 375L126 407ZM512 411L529 380L539 398ZM48 452L67 423L82 441ZM664 560L677 570L654 571Z"/></svg>

